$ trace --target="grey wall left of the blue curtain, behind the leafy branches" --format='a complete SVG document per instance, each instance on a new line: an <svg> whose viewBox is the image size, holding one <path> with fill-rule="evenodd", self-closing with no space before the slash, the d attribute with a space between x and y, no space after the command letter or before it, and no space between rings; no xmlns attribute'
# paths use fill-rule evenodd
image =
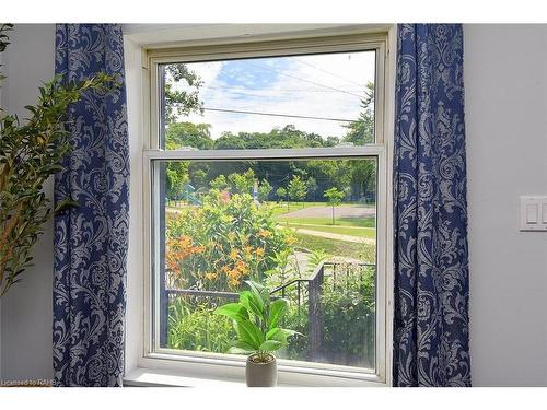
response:
<svg viewBox="0 0 547 410"><path fill-rule="evenodd" d="M54 75L55 25L18 24L4 52L8 79L3 106L20 118L34 104L37 86ZM53 198L53 181L44 187ZM53 221L35 251L35 267L23 273L1 301L1 375L3 379L49 379L51 359Z"/></svg>

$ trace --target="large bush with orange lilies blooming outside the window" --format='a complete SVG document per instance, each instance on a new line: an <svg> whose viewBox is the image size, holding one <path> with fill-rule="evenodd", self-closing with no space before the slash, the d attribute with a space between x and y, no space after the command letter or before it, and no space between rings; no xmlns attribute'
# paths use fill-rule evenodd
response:
<svg viewBox="0 0 547 410"><path fill-rule="evenodd" d="M170 284L185 289L235 291L245 279L260 282L291 241L268 207L214 189L201 207L168 214L166 225Z"/></svg>

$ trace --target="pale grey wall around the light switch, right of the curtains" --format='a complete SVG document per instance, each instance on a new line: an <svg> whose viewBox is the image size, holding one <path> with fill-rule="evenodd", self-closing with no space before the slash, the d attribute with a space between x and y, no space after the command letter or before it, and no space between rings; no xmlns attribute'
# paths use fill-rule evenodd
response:
<svg viewBox="0 0 547 410"><path fill-rule="evenodd" d="M519 232L547 195L547 25L464 31L473 383L547 386L547 233Z"/></svg>

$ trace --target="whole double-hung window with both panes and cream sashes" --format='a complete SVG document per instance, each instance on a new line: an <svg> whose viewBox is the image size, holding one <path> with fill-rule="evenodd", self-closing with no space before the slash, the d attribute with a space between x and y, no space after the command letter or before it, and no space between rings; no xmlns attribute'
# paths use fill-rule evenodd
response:
<svg viewBox="0 0 547 410"><path fill-rule="evenodd" d="M237 366L213 314L286 297L288 373L385 376L385 38L150 54L146 354Z"/></svg>

